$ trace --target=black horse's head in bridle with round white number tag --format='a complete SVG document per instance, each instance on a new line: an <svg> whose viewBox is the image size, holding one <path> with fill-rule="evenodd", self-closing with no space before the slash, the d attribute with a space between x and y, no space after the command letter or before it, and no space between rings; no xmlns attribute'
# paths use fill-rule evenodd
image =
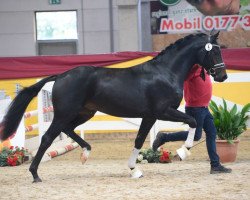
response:
<svg viewBox="0 0 250 200"><path fill-rule="evenodd" d="M227 79L226 66L221 56L221 49L217 43L219 32L215 35L209 35L206 42L202 42L202 47L198 53L199 64L217 82L223 82Z"/></svg>

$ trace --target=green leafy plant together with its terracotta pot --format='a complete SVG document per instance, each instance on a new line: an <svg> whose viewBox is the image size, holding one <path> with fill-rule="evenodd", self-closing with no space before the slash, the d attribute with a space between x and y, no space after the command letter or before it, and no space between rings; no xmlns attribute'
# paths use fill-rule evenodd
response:
<svg viewBox="0 0 250 200"><path fill-rule="evenodd" d="M218 106L213 100L209 105L217 130L216 148L222 163L234 162L237 156L238 137L247 129L250 103L238 110L236 104L229 109L226 101L222 100L223 105Z"/></svg>

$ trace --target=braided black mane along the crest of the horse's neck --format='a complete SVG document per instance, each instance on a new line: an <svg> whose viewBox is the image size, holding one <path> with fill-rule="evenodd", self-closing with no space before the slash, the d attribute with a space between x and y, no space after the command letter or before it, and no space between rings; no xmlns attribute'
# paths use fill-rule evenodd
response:
<svg viewBox="0 0 250 200"><path fill-rule="evenodd" d="M190 34L184 38L180 38L175 43L170 44L164 50L162 50L156 57L153 58L153 60L161 57L163 54L166 54L169 51L181 49L182 47L186 46L187 43L190 43L191 39L198 38L198 37L200 38L203 36L206 36L206 34L204 34L204 33Z"/></svg>

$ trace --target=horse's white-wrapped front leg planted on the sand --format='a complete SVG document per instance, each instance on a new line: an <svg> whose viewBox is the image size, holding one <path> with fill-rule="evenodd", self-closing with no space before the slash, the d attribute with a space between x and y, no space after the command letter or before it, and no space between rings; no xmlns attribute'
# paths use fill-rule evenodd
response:
<svg viewBox="0 0 250 200"><path fill-rule="evenodd" d="M142 148L145 139L150 131L150 129L152 128L152 126L154 125L156 119L152 119L152 118L143 118L138 134L136 136L135 139L135 146L134 149L131 153L131 156L128 160L128 167L131 169L131 177L132 178L140 178L142 177L142 172L136 168L136 159L139 155L139 151Z"/></svg>

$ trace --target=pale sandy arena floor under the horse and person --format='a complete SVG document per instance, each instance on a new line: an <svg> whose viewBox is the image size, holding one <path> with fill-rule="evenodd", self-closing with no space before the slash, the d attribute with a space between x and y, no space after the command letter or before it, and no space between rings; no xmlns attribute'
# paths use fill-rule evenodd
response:
<svg viewBox="0 0 250 200"><path fill-rule="evenodd" d="M133 139L91 139L92 152L85 165L77 148L41 163L43 182L32 184L29 164L0 168L0 199L8 200L188 200L241 199L250 197L250 132L241 138L237 161L225 164L231 174L209 174L209 161L202 143L186 161L169 164L138 164L141 179L131 179L127 159ZM174 152L182 143L169 143ZM148 147L146 142L144 147Z"/></svg>

